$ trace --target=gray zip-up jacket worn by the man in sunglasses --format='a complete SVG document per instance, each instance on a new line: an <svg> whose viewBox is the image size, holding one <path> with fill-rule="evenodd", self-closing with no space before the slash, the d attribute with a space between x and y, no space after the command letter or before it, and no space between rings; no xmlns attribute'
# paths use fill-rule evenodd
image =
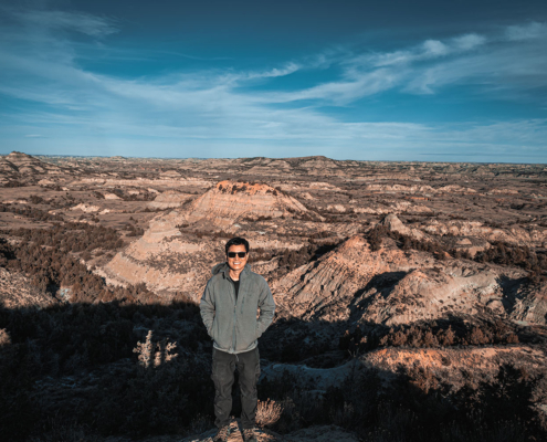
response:
<svg viewBox="0 0 547 442"><path fill-rule="evenodd" d="M214 340L213 347L231 354L252 350L257 345L256 339L272 324L275 313L266 280L251 272L246 264L240 274L235 301L228 264L217 264L212 274L199 307L207 333ZM260 317L256 319L259 308Z"/></svg>

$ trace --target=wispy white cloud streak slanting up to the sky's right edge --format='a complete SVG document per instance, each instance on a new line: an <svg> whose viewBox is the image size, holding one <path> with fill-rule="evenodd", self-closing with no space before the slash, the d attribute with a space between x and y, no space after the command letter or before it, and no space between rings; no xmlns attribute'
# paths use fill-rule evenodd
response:
<svg viewBox="0 0 547 442"><path fill-rule="evenodd" d="M536 75L547 67L545 29L543 23L532 23L509 27L497 35L467 33L392 52L357 54L340 63L345 71L338 81L270 96L275 102L324 99L344 105L392 88L433 94L462 82L515 87L519 77L528 87L540 87L547 80ZM511 44L503 44L507 35Z"/></svg>

